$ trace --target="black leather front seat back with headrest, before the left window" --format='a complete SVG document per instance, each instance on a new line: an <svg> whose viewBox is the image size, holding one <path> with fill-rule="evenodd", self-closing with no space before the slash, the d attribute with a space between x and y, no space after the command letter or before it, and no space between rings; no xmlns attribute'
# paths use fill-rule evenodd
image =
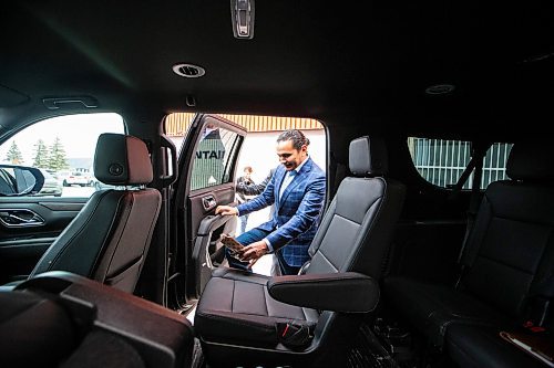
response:
<svg viewBox="0 0 554 368"><path fill-rule="evenodd" d="M158 190L144 188L153 178L146 145L133 136L102 134L94 175L106 185L125 187L94 192L29 277L68 271L133 292L162 202Z"/></svg>

